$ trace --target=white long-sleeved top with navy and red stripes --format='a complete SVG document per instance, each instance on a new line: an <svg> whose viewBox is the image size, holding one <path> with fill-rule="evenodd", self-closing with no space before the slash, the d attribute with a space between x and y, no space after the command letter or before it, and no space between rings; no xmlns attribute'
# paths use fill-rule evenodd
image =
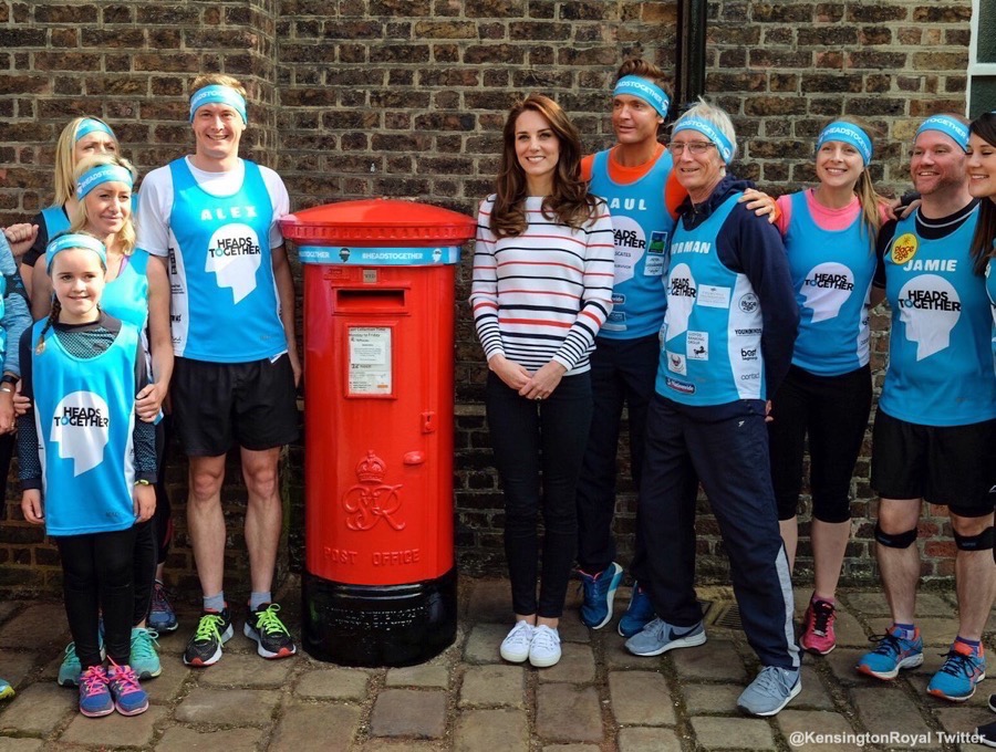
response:
<svg viewBox="0 0 996 752"><path fill-rule="evenodd" d="M491 232L495 197L480 203L470 306L490 361L505 355L530 372L557 361L566 375L590 368L589 353L612 310L615 246L604 201L580 230L526 199L528 226L515 238Z"/></svg>

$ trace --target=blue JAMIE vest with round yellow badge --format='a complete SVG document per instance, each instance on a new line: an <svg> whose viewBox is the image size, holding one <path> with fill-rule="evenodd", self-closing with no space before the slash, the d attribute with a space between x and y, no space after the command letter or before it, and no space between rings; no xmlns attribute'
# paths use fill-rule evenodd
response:
<svg viewBox="0 0 996 752"><path fill-rule="evenodd" d="M924 426L996 418L993 317L968 255L977 221L978 209L946 238L925 240L910 217L885 249L892 332L879 407L893 418Z"/></svg>

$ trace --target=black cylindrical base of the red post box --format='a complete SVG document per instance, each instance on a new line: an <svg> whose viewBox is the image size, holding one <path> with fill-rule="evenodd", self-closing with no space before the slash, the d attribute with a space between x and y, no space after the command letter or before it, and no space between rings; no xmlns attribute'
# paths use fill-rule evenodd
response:
<svg viewBox="0 0 996 752"><path fill-rule="evenodd" d="M456 639L456 566L405 585L349 585L305 570L301 596L304 649L319 660L414 666Z"/></svg>

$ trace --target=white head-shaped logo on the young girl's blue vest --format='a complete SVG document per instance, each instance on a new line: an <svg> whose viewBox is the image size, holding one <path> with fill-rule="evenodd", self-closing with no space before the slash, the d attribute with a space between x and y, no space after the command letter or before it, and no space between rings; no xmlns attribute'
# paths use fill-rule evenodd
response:
<svg viewBox="0 0 996 752"><path fill-rule="evenodd" d="M82 476L104 461L110 432L104 398L93 391L73 391L55 406L49 440L59 445L61 459L73 460L73 476Z"/></svg>

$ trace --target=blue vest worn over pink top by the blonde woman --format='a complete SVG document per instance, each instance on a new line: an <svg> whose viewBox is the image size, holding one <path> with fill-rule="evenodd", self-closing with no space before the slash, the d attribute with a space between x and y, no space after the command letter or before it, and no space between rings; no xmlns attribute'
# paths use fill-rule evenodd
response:
<svg viewBox="0 0 996 752"><path fill-rule="evenodd" d="M792 363L840 376L868 364L868 295L876 265L871 234L860 213L843 230L824 230L805 192L792 194L791 202L785 248L801 314Z"/></svg>

